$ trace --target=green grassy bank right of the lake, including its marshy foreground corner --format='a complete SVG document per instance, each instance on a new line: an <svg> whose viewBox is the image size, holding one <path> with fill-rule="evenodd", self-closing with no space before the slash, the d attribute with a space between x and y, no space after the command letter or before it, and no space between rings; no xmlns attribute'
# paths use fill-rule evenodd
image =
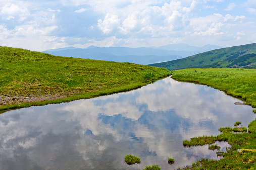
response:
<svg viewBox="0 0 256 170"><path fill-rule="evenodd" d="M246 104L256 107L256 69L194 68L174 70L172 73L174 79L206 84L235 97L241 97ZM256 110L253 111L256 113ZM217 136L201 136L184 140L184 146L206 145L215 141L228 141L232 145L227 152L221 153L224 155L221 160L201 159L185 169L256 168L256 120L248 125L249 133L247 130L234 133L236 130L237 127L225 127L220 128L222 133ZM237 149L240 148L254 150L237 153Z"/></svg>

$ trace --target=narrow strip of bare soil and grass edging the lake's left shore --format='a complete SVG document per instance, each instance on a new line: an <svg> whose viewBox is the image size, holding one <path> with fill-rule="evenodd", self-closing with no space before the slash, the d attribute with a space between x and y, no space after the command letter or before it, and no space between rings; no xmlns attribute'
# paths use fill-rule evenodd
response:
<svg viewBox="0 0 256 170"><path fill-rule="evenodd" d="M127 84L126 86L121 86L118 88L112 88L109 90L98 90L95 92L89 92L89 93L77 93L74 95L74 93L70 92L67 95L62 95L60 93L56 94L50 94L50 95L28 95L28 96L0 96L0 114L4 113L6 110L10 109L19 109L19 108L25 108L30 106L43 106L48 104L58 104L63 102L71 102L75 100L80 99L90 99L90 98L96 98L100 96L106 96L106 95L112 95L116 93L122 93L122 92L129 92L132 90L139 89L143 86L146 86L147 84L156 82L160 79L166 78L170 76L170 74L166 74L160 77L152 77L149 79L145 79L144 82L137 82L133 84ZM6 103L4 103L6 102ZM3 112L4 111L4 112Z"/></svg>

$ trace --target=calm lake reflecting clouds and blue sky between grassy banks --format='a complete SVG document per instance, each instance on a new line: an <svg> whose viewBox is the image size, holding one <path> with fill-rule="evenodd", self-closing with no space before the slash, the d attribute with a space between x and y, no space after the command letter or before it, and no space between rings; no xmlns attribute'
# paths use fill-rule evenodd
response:
<svg viewBox="0 0 256 170"><path fill-rule="evenodd" d="M126 93L7 111L0 115L0 169L176 169L219 159L184 139L218 135L256 118L250 106L219 90L170 77ZM226 142L219 143L226 150ZM132 154L141 163L127 165ZM173 165L168 157L175 158Z"/></svg>

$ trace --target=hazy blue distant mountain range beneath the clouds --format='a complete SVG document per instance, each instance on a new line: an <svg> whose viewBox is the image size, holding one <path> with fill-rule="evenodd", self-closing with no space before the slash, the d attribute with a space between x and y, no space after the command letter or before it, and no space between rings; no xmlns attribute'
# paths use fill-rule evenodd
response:
<svg viewBox="0 0 256 170"><path fill-rule="evenodd" d="M96 47L87 48L66 47L42 51L44 53L76 58L96 60L131 62L136 64L152 64L181 59L201 52L222 48L216 45L195 47L187 44L169 44L161 47Z"/></svg>

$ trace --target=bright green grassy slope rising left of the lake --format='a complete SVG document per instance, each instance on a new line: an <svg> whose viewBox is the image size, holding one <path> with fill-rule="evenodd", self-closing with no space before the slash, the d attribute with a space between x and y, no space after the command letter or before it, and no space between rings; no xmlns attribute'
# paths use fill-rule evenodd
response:
<svg viewBox="0 0 256 170"><path fill-rule="evenodd" d="M0 46L0 97L67 97L8 106L0 101L0 110L128 91L169 74L164 68L60 57Z"/></svg>

